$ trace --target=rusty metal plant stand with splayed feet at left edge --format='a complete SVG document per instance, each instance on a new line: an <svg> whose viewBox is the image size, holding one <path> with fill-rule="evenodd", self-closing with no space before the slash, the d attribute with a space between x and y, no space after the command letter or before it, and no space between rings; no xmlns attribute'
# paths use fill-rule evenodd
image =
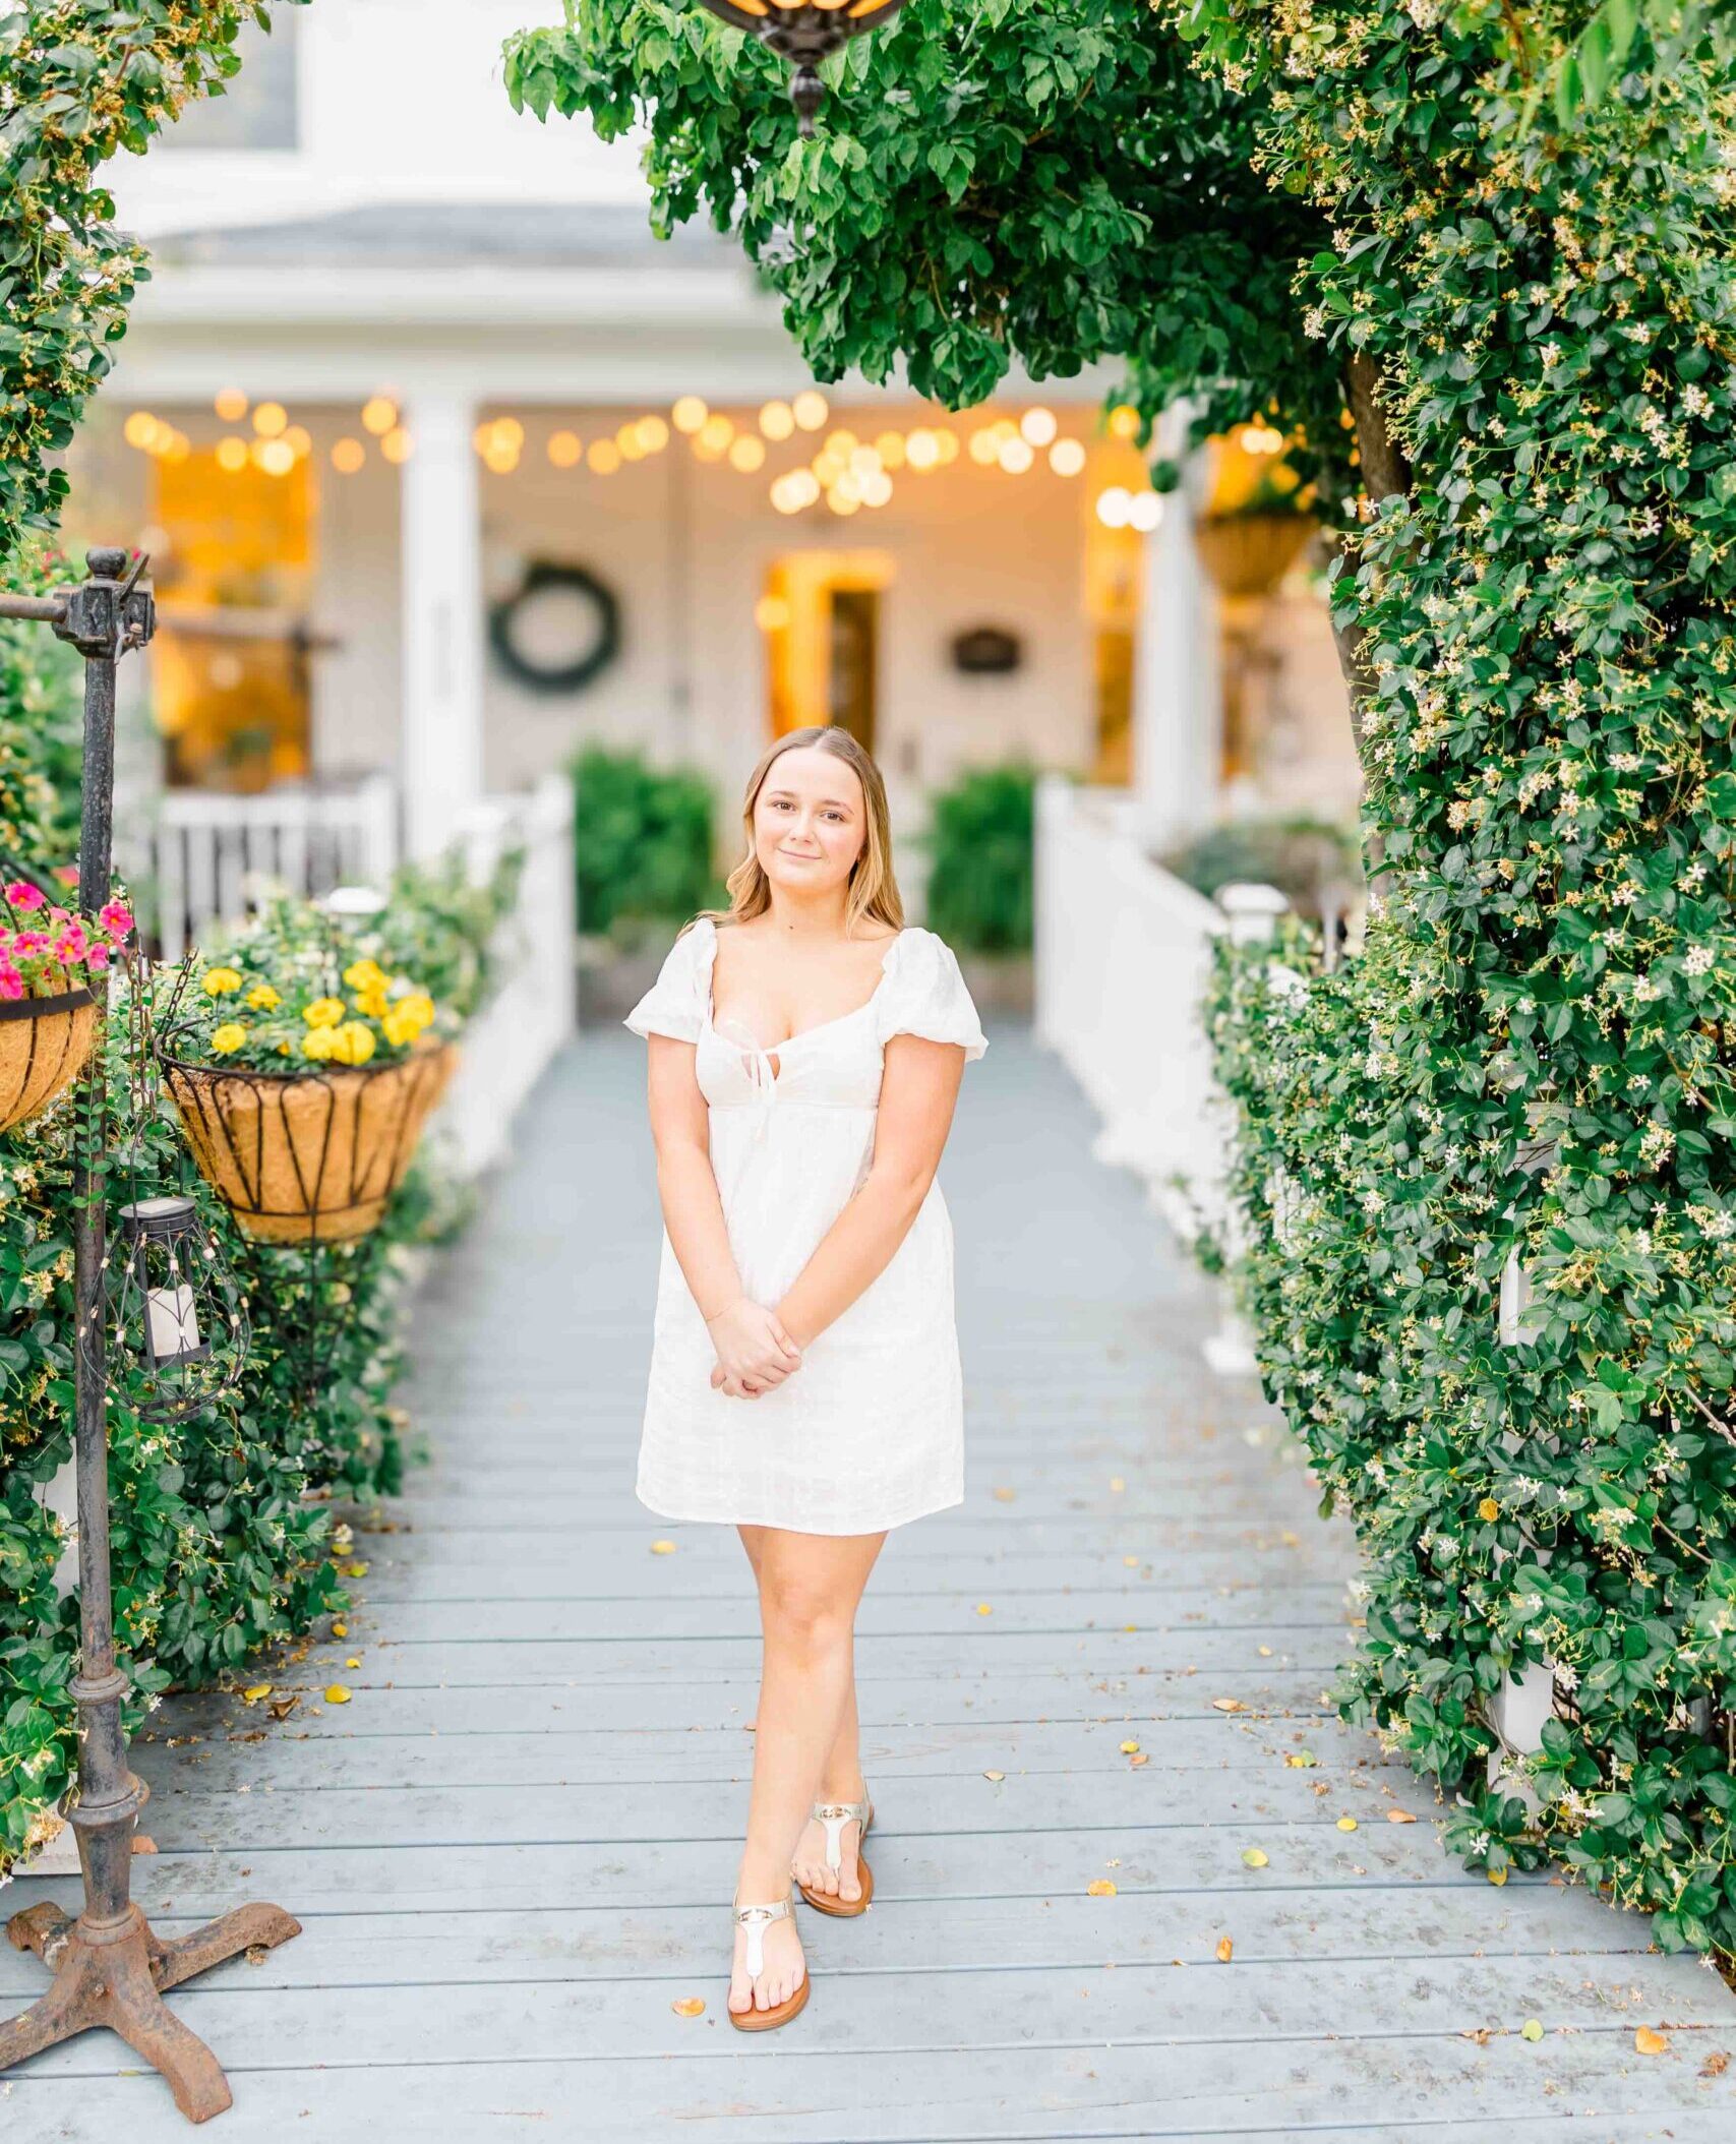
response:
<svg viewBox="0 0 1736 2144"><path fill-rule="evenodd" d="M139 585L144 560L124 551L86 553L90 579L54 596L0 596L0 617L54 628L84 656L84 832L79 907L96 915L109 896L114 830L114 680L120 656L152 635L152 596ZM287 1942L300 1923L279 1906L238 1906L219 1921L159 1940L131 1900L133 1831L144 1801L126 1769L120 1700L126 1677L114 1657L109 1593L109 1454L105 1419L103 1186L105 1081L101 1016L79 1091L75 1201L77 1299L77 1497L79 1497L79 1795L71 1825L84 1867L84 1912L58 1906L13 1915L6 1934L54 1972L41 2000L0 2024L0 2071L75 2033L105 2024L163 2073L180 2112L210 2120L229 2103L216 2056L167 2009L163 1994L255 1945Z"/></svg>

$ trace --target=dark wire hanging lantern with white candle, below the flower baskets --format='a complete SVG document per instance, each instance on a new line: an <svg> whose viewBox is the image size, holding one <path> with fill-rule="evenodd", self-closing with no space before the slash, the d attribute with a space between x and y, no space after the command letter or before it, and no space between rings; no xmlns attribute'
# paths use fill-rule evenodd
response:
<svg viewBox="0 0 1736 2144"><path fill-rule="evenodd" d="M191 1198L124 1205L107 1263L116 1349L139 1364L126 1396L146 1421L180 1421L240 1381L246 1301Z"/></svg>

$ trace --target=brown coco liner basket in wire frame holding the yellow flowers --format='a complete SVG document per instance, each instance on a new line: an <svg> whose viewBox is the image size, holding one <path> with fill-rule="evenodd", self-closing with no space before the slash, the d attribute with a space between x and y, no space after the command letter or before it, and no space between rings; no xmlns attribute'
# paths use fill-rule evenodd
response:
<svg viewBox="0 0 1736 2144"><path fill-rule="evenodd" d="M347 1244L379 1226L459 1059L426 1042L384 1066L251 1072L163 1055L199 1173L259 1244Z"/></svg>

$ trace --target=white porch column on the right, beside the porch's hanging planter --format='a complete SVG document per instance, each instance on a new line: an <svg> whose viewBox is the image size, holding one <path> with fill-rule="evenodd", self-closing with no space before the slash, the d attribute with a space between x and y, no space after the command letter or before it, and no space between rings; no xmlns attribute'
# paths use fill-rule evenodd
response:
<svg viewBox="0 0 1736 2144"><path fill-rule="evenodd" d="M1192 519L1204 455L1187 455L1187 407L1157 427L1157 446L1183 463L1164 519L1144 538L1140 624L1134 652L1134 817L1147 847L1183 840L1217 815L1222 682L1217 592L1194 549Z"/></svg>

